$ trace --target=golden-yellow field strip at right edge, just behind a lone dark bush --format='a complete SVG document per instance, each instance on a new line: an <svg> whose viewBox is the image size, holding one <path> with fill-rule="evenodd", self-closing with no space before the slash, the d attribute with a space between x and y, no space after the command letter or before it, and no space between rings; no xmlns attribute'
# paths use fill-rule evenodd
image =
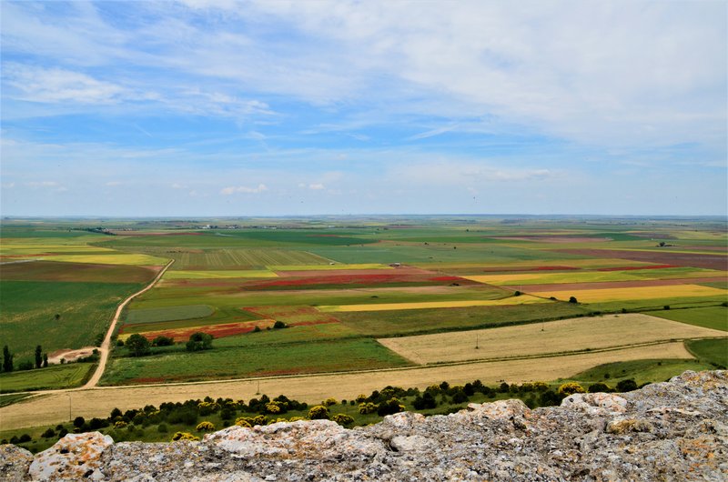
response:
<svg viewBox="0 0 728 482"><path fill-rule="evenodd" d="M531 291L531 293L545 297L553 296L561 300L568 300L570 296L576 296L579 301L585 303L624 299L680 298L683 296L728 296L727 290L699 285L572 289L570 291Z"/></svg>

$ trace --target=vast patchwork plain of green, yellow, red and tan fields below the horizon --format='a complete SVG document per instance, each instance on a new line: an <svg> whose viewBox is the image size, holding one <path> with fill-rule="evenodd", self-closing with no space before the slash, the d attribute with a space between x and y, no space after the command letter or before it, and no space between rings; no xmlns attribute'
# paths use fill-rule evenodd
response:
<svg viewBox="0 0 728 482"><path fill-rule="evenodd" d="M121 300L173 259L120 316L104 390L263 378L307 399L381 380L596 377L588 370L605 363L669 377L720 365L727 343L728 237L720 222L687 223L382 217L201 229L128 221L101 235L5 222L0 343L16 362L32 359L37 344L94 346ZM672 246L653 241L661 236ZM189 352L197 332L212 335L212 347ZM134 356L125 346L133 334L174 344ZM662 365L641 361L651 359ZM0 383L81 383L56 376L68 367L47 368L50 381L36 379L42 368ZM51 369L59 371L51 377ZM336 377L347 381L339 387Z"/></svg>

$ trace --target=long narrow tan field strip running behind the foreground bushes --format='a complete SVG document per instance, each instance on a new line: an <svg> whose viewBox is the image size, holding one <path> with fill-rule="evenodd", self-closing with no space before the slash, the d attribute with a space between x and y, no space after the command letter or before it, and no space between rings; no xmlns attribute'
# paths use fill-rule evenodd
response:
<svg viewBox="0 0 728 482"><path fill-rule="evenodd" d="M230 397L235 400L284 394L303 402L319 403L326 397L354 398L369 394L388 385L425 388L436 381L448 380L451 385L462 385L474 379L494 385L548 381L568 378L603 363L653 358L685 358L693 356L680 342L655 346L626 348L599 353L571 356L529 358L499 362L477 362L464 365L415 367L363 373L314 375L304 377L274 377L239 381L207 382L147 387L106 387L48 394L0 408L0 429L56 425L77 416L108 417L114 407L122 411L141 408L148 404L183 402L190 398ZM70 395L68 395L70 393ZM70 397L70 399L69 399Z"/></svg>

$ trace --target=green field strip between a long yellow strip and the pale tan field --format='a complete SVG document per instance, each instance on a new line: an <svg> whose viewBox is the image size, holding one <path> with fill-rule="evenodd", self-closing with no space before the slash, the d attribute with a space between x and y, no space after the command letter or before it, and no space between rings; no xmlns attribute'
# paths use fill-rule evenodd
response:
<svg viewBox="0 0 728 482"><path fill-rule="evenodd" d="M400 336L505 326L562 317L581 316L586 311L570 303L539 303L511 306L419 309L382 312L337 313L341 323L368 336Z"/></svg>

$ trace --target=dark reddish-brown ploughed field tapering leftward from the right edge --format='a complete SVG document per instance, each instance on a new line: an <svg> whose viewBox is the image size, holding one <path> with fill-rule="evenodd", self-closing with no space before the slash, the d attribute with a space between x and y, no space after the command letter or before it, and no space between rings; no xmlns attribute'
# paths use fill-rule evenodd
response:
<svg viewBox="0 0 728 482"><path fill-rule="evenodd" d="M728 256L721 254L699 255L693 253L671 253L670 251L625 251L616 249L554 249L557 253L591 257L610 257L644 261L661 265L693 266L708 269L728 270Z"/></svg>

